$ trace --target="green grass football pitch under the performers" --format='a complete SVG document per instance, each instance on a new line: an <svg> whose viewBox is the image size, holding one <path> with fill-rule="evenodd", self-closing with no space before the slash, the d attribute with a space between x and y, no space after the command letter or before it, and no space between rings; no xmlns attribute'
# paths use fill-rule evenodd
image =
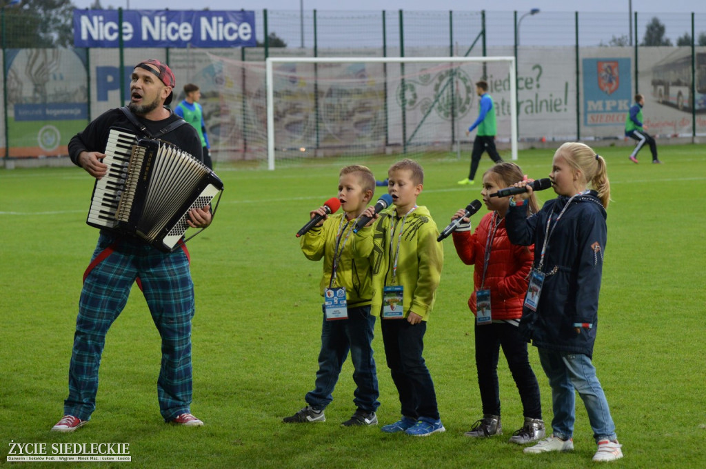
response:
<svg viewBox="0 0 706 469"><path fill-rule="evenodd" d="M594 364L625 453L611 467L706 465L704 148L661 147L664 165L650 165L647 150L640 165L628 161L625 148L600 151L608 162L613 202ZM527 150L518 162L530 177L546 177L552 153ZM426 172L419 203L429 207L440 227L455 210L480 198L479 186L455 184L466 174L467 160L419 161ZM378 179L391 162L361 161ZM484 157L481 172L490 164ZM525 455L507 443L522 424L522 408L503 357L505 435L481 441L463 436L481 416L466 304L472 271L457 259L450 239L444 242L445 266L425 340L447 431L414 439L383 434L378 427L340 427L354 412L349 362L325 423L282 424L282 417L304 405L313 386L321 333L321 264L304 258L294 233L309 210L336 195L340 166L274 172L216 168L226 186L220 208L213 225L189 243L196 283L191 409L205 427L162 422L156 396L160 339L134 288L107 336L97 410L73 434L49 429L62 415L81 276L98 235L85 225L92 179L76 167L0 170L0 465L6 464L12 441L49 448L128 443L131 463L101 465L119 468L594 465L594 441L580 400L573 453ZM554 194L539 196L544 201ZM382 403L378 418L384 425L397 420L399 401L379 326L373 345ZM549 422L551 393L535 348L530 358Z"/></svg>

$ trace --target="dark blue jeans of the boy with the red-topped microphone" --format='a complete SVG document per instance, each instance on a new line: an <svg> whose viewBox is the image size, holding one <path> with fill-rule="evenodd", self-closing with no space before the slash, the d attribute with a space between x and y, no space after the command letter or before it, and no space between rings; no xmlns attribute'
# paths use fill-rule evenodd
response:
<svg viewBox="0 0 706 469"><path fill-rule="evenodd" d="M333 400L333 388L341 373L343 362L351 352L353 361L353 381L357 386L353 393L356 407L365 412L375 412L378 402L378 374L373 359L373 330L375 316L370 314L370 306L349 308L348 319L326 321L321 327L321 352L318 354L316 389L306 393L311 407L322 410Z"/></svg>

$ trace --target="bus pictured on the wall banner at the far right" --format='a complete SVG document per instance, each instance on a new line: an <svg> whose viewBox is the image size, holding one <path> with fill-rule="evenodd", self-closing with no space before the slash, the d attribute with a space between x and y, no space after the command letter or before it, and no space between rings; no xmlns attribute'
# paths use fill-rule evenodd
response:
<svg viewBox="0 0 706 469"><path fill-rule="evenodd" d="M706 112L706 52L695 54L695 111ZM691 110L691 52L669 57L652 68L652 96L657 102Z"/></svg>

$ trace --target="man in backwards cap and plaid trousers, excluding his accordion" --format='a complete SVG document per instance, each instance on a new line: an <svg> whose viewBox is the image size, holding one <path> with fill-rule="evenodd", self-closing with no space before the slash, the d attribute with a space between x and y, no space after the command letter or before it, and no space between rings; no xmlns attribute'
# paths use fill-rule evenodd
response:
<svg viewBox="0 0 706 469"><path fill-rule="evenodd" d="M203 162L196 130L175 124L181 119L164 107L172 101L175 85L174 73L167 64L155 59L140 62L131 76L128 105L136 121L118 108L104 112L71 138L71 161L96 179L105 177L108 166L102 159L106 156L108 134L111 127L119 127L131 129L138 137L159 134L163 141ZM140 128L136 128L136 123ZM187 222L191 227L203 228L210 224L211 216L208 206L195 208L189 210ZM125 307L136 280L162 338L162 367L157 379L160 413L165 422L203 425L191 415L190 408L194 294L186 245L164 252L138 237L101 230L79 300L64 417L53 431L73 432L90 420L95 410L105 336Z"/></svg>

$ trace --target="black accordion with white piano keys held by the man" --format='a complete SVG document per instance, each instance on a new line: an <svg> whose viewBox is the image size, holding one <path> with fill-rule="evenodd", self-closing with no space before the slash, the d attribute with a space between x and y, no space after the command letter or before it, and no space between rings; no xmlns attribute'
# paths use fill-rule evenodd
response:
<svg viewBox="0 0 706 469"><path fill-rule="evenodd" d="M86 223L139 237L160 251L177 247L189 210L217 195L220 201L221 180L171 143L112 128L103 162L108 172L95 182Z"/></svg>

